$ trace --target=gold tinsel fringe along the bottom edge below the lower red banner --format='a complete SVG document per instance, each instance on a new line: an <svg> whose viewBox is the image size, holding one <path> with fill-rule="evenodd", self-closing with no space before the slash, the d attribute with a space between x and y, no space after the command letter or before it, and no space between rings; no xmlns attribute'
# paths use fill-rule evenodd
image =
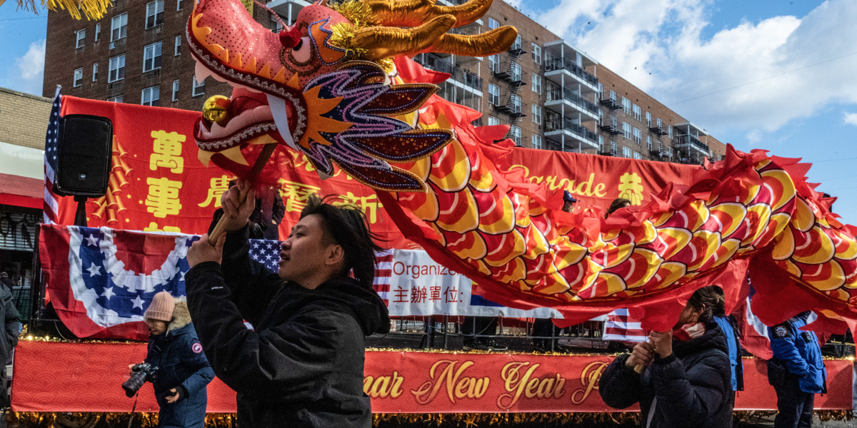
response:
<svg viewBox="0 0 857 428"><path fill-rule="evenodd" d="M771 418L771 411L736 411L736 421ZM822 422L851 420L851 410L816 410ZM86 412L10 412L7 423L20 428L89 428L104 420L108 425L127 426L130 413L86 413ZM614 413L375 413L373 425L426 425L426 426L513 426L523 424L609 424L639 425L637 412ZM135 413L135 425L153 427L158 425L158 413ZM231 428L236 425L235 413L208 413L207 428Z"/></svg>

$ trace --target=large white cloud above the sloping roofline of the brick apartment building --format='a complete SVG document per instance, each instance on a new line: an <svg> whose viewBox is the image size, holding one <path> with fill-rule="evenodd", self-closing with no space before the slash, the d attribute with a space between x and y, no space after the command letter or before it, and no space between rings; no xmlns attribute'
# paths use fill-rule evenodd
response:
<svg viewBox="0 0 857 428"><path fill-rule="evenodd" d="M758 138L826 104L857 103L857 55L846 56L857 51L857 2L703 39L710 13L710 0L561 0L537 21L715 134Z"/></svg>

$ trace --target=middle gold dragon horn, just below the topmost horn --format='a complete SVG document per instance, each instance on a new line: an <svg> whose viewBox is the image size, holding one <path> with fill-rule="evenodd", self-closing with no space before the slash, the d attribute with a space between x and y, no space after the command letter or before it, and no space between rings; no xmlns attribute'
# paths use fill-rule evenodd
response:
<svg viewBox="0 0 857 428"><path fill-rule="evenodd" d="M452 15L440 15L417 28L365 27L354 34L354 45L366 50L369 61L393 56L414 56L428 50L455 25Z"/></svg>

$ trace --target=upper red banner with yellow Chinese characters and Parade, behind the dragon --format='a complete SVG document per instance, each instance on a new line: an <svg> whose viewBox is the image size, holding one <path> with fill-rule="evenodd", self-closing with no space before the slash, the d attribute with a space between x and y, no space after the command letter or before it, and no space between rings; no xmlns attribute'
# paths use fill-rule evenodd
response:
<svg viewBox="0 0 857 428"><path fill-rule="evenodd" d="M90 227L158 231L201 235L219 207L219 196L232 176L198 158L193 126L200 113L143 105L108 103L63 97L62 114L105 116L113 121L114 152L111 186L103 199L87 204ZM279 193L285 205L280 235L288 235L297 223L310 194L334 194L334 203L363 208L373 230L385 237L387 246L413 248L387 216L375 191L336 169L322 181L303 153L290 150L291 169L281 177ZM591 156L516 148L501 168L520 169L530 181L564 188L580 199L580 206L606 208L615 198L633 205L650 200L668 183L687 182L697 166L649 162L629 158ZM73 224L76 204L60 198L60 224Z"/></svg>

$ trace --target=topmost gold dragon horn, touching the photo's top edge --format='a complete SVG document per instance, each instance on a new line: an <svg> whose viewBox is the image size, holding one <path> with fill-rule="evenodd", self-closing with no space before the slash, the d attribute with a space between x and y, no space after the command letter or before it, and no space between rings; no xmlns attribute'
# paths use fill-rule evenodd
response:
<svg viewBox="0 0 857 428"><path fill-rule="evenodd" d="M452 15L455 27L465 26L485 15L493 0L470 0L458 6L435 6L435 0L363 0L385 27L417 27L441 15Z"/></svg>

